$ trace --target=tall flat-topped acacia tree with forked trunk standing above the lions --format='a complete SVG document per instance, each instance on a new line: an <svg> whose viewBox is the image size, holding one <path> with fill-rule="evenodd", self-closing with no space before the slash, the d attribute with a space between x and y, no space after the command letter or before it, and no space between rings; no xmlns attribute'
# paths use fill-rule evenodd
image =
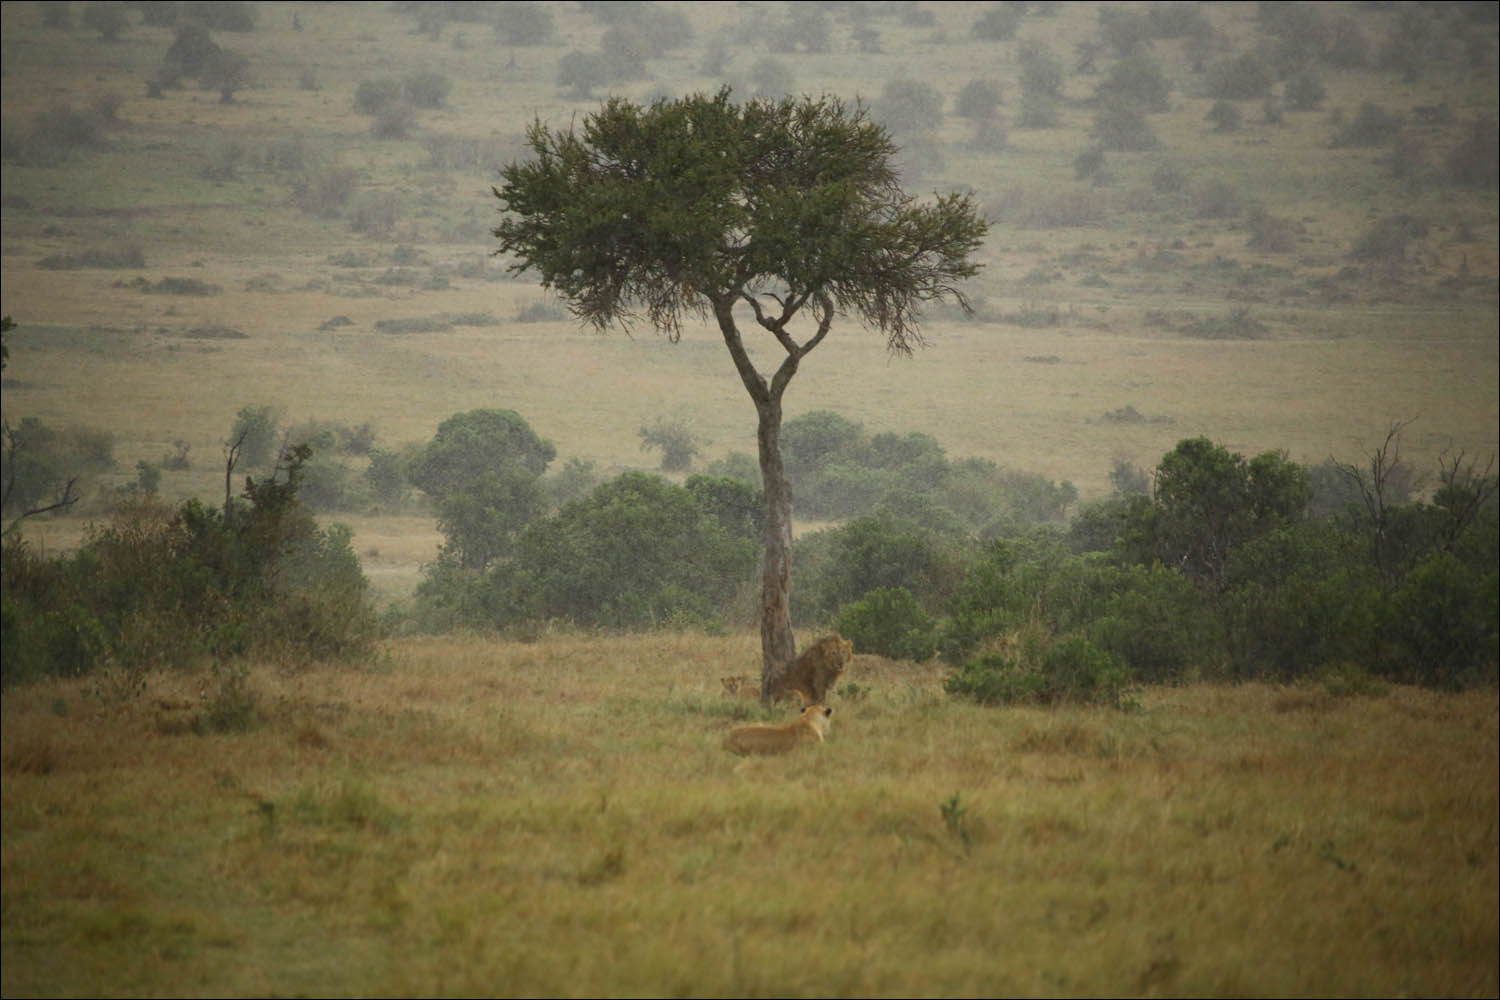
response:
<svg viewBox="0 0 1500 1000"><path fill-rule="evenodd" d="M886 130L837 97L738 105L728 88L650 106L614 97L580 130L537 121L528 144L534 157L506 166L494 189L510 270L536 270L600 330L644 312L675 342L686 319L711 316L754 403L764 696L796 654L786 387L837 316L909 355L922 343L922 303L948 297L968 309L958 283L978 270L987 223L968 195L908 196ZM770 375L752 361L741 319L780 348Z"/></svg>

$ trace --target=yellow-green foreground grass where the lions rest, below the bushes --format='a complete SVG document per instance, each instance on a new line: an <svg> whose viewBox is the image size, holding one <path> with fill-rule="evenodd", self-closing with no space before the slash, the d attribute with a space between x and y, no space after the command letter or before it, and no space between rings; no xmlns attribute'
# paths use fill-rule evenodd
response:
<svg viewBox="0 0 1500 1000"><path fill-rule="evenodd" d="M996 711L858 657L828 744L741 762L718 676L756 660L447 639L8 691L3 991L1500 988L1492 690Z"/></svg>

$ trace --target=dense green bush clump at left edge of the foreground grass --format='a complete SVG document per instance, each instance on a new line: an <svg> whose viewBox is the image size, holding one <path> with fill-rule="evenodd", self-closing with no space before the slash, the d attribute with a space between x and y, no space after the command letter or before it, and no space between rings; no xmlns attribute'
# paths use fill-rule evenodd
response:
<svg viewBox="0 0 1500 1000"><path fill-rule="evenodd" d="M310 453L248 478L225 510L120 502L78 553L6 544L4 684L108 667L120 690L202 658L332 660L369 649L375 619L348 528L320 529L297 504Z"/></svg>

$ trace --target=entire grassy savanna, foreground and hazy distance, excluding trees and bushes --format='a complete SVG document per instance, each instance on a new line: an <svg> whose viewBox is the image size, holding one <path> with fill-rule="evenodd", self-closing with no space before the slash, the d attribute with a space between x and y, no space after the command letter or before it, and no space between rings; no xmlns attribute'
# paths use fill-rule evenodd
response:
<svg viewBox="0 0 1500 1000"><path fill-rule="evenodd" d="M638 429L663 415L705 460L753 453L717 333L579 330L490 255L490 184L532 120L723 82L885 99L892 127L912 126L888 84L928 84L944 103L906 186L972 190L993 223L974 315L934 312L912 358L836 327L789 417L924 432L1083 501L1112 462L1149 469L1197 435L1359 465L1406 421L1424 472L1500 445L1496 187L1444 172L1496 118L1492 4L1420 4L1442 27L1410 72L1378 57L1410 7L1316 4L1368 60L1323 70L1306 109L1278 79L1233 127L1206 120L1228 117L1202 64L1268 46L1276 4L1174 4L1208 28L1144 42L1172 81L1154 144L1096 159L1112 31L1162 4L1026 4L999 37L976 30L999 4L842 4L822 51L818 21L777 30L813 4L660 4L687 39L591 93L562 66L618 43L596 4L216 4L254 13L213 30L244 58L226 100L148 91L180 27L142 19L162 6L0 6L4 418L105 430L114 457L20 528L44 552L108 519L141 465L168 502L220 502L244 406L393 451L507 408L600 474L652 466ZM550 27L507 34L504 7ZM1046 108L1023 106L1038 49L1062 76ZM362 84L423 72L450 90L410 118L357 108ZM974 81L998 106L960 114ZM1366 103L1400 129L1338 141ZM1382 243L1389 217L1412 223ZM442 541L418 498L320 517L352 528L398 612ZM946 696L934 663L860 654L826 744L740 760L722 735L784 711L724 696L760 655L738 625L8 688L0 987L1500 991L1492 688L1330 676L996 709Z"/></svg>

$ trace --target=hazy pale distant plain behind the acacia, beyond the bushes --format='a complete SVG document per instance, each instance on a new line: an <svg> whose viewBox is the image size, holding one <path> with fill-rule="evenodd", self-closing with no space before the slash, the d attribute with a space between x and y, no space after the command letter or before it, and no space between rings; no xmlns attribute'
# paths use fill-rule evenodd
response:
<svg viewBox="0 0 1500 1000"><path fill-rule="evenodd" d="M526 124L578 120L604 94L578 99L558 84L560 60L597 48L603 22L579 4L546 4L554 36L506 46L484 24L417 31L392 4L312 4L297 9L303 30L291 7L262 6L254 31L216 34L252 67L232 103L190 85L146 96L171 28L134 21L111 43L76 19L44 27L40 4L0 10L8 135L24 139L28 123L64 105L117 102L93 145L8 154L0 277L4 312L20 322L8 337L8 418L111 432L106 490L130 481L136 462L188 444L192 468L164 471L168 499L222 496L224 438L250 405L278 408L284 426L369 421L386 448L426 441L458 411L512 408L555 442L558 465L578 457L602 474L650 465L638 429L660 415L686 420L704 459L754 451L753 411L717 333L688 328L670 345L648 330L580 331L489 256L490 184L522 154ZM1218 133L1186 42L1155 39L1150 57L1173 82L1167 109L1148 115L1160 145L1112 151L1102 174L1080 178L1113 57L1074 72L1076 49L1114 7L1059 4L992 42L974 34L974 4L930 4L930 18L876 4L864 12L879 51L858 51L838 13L828 52L776 54L796 93L861 97L876 112L888 81L930 82L944 111L916 145L934 154L910 165L906 184L969 189L994 220L969 288L974 318L934 313L930 346L912 360L840 327L804 363L788 415L836 409L873 433L926 432L952 457L1071 480L1084 499L1108 490L1116 457L1152 468L1197 435L1248 454L1359 462L1392 421L1414 418L1402 456L1422 472L1444 451L1500 448L1496 193L1436 178L1468 123L1496 115L1492 66L1444 58L1412 79L1374 60L1326 70L1317 111L1272 124L1258 102L1239 102L1245 124ZM692 42L612 93L640 100L726 81L750 93L765 52L744 39L770 37L766 25L790 10L675 9ZM1400 9L1320 9L1353 18L1372 49L1400 28ZM1202 13L1214 58L1263 39L1256 6ZM1450 18L1454 37L1492 27L1462 16ZM714 45L729 52L718 73L705 70ZM1065 76L1053 127L1018 126L1018 54L1036 45ZM375 138L372 118L354 111L357 87L423 70L452 81L448 97L418 111L405 138ZM1004 93L998 148L975 142L975 123L952 111L975 79ZM1395 177L1389 147L1332 145L1365 102L1407 121L1425 156L1418 175ZM1158 183L1162 169L1180 190ZM345 199L309 199L340 177ZM1286 220L1290 244L1250 247L1252 208ZM1398 213L1424 220L1426 235L1390 259L1350 256ZM144 265L38 267L128 247ZM159 291L189 280L212 294ZM1234 310L1258 324L1252 334L1184 334ZM426 321L440 325L411 331ZM1107 417L1122 412L1136 418ZM411 520L417 537L430 526ZM414 579L417 564L399 573Z"/></svg>

